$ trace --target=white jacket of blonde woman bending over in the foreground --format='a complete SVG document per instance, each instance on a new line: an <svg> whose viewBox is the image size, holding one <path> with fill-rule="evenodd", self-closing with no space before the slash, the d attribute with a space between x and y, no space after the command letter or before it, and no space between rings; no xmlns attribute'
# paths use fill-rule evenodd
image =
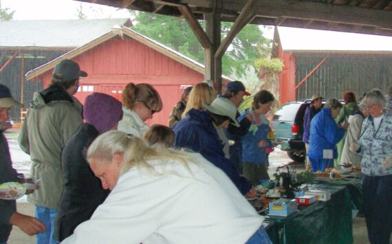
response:
<svg viewBox="0 0 392 244"><path fill-rule="evenodd" d="M263 217L223 171L192 155L198 163L188 163L193 174L167 159L149 161L164 175L131 168L62 243L246 243Z"/></svg>

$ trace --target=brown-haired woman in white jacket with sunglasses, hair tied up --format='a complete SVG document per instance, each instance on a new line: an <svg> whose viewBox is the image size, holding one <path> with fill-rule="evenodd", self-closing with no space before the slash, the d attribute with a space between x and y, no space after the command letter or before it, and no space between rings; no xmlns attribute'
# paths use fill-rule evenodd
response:
<svg viewBox="0 0 392 244"><path fill-rule="evenodd" d="M122 91L121 98L124 114L118 123L118 130L142 138L149 129L144 122L162 110L160 94L149 84L129 83Z"/></svg>

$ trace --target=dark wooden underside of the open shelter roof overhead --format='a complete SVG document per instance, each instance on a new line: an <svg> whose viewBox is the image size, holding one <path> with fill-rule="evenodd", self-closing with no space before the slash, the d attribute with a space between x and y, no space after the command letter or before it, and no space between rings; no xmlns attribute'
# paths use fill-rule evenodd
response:
<svg viewBox="0 0 392 244"><path fill-rule="evenodd" d="M391 0L77 0L184 19L219 14L235 22L244 7L250 23L392 36Z"/></svg>

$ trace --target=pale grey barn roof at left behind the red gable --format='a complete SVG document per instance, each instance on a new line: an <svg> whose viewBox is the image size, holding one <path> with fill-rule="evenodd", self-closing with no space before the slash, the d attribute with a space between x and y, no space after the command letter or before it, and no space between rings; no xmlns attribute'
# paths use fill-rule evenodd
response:
<svg viewBox="0 0 392 244"><path fill-rule="evenodd" d="M14 47L80 47L130 19L0 21L0 49Z"/></svg>

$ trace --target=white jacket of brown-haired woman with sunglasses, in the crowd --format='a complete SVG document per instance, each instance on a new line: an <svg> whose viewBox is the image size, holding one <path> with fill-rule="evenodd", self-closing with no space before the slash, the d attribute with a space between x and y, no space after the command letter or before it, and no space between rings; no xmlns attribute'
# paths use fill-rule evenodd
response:
<svg viewBox="0 0 392 244"><path fill-rule="evenodd" d="M149 129L149 126L144 124L138 114L126 107L122 107L122 112L122 120L118 122L118 131L123 131L143 138L143 134Z"/></svg>

